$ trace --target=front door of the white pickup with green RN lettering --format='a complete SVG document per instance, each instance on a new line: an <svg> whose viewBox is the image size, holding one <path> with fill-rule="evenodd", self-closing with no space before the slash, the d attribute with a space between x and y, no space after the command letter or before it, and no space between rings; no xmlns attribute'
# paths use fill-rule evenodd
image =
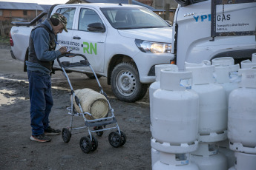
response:
<svg viewBox="0 0 256 170"><path fill-rule="evenodd" d="M100 23L103 25L102 19L95 10L81 7L79 17L76 20L76 28L73 30L72 44L74 50L85 55L93 67L93 70L100 74L104 71L105 39L107 33L89 31L88 24L92 23ZM79 56L73 58L75 62L79 62L80 60L81 58ZM91 71L89 67L80 69Z"/></svg>

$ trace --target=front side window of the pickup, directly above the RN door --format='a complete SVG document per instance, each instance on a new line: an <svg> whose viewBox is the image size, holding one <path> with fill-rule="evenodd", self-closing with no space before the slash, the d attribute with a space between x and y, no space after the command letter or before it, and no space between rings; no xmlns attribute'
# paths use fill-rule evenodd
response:
<svg viewBox="0 0 256 170"><path fill-rule="evenodd" d="M88 31L88 24L101 23L102 20L94 10L82 8L79 14L78 30Z"/></svg>

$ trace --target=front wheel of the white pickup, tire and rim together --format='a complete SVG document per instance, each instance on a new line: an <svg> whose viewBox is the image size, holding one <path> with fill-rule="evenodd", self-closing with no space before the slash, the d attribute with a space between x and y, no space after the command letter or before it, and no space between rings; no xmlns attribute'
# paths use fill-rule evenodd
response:
<svg viewBox="0 0 256 170"><path fill-rule="evenodd" d="M148 84L141 84L136 67L128 63L120 63L111 74L111 88L119 101L135 102L145 96Z"/></svg>

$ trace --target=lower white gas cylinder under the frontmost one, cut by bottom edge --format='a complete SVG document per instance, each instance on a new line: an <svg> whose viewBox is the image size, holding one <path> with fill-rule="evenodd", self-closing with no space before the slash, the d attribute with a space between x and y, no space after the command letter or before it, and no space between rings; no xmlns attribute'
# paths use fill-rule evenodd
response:
<svg viewBox="0 0 256 170"><path fill-rule="evenodd" d="M154 163L153 170L199 170L189 160L189 154L168 154L160 152L160 160Z"/></svg>

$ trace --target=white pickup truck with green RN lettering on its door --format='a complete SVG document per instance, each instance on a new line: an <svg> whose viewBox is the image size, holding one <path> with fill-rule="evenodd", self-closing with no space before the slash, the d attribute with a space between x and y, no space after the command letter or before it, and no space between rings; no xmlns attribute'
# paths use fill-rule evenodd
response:
<svg viewBox="0 0 256 170"><path fill-rule="evenodd" d="M130 4L58 4L51 13L62 13L68 19L68 33L58 35L58 43L73 53L85 55L96 75L108 78L116 98L134 102L144 97L148 84L155 81L154 65L167 64L171 54L172 28L162 18L145 7ZM42 13L30 23L13 23L10 30L11 54L25 62L28 41ZM56 50L59 47L57 46ZM70 62L81 58L66 58ZM53 68L59 69L58 62ZM24 64L24 71L26 66ZM72 67L70 71L85 72L87 67Z"/></svg>

